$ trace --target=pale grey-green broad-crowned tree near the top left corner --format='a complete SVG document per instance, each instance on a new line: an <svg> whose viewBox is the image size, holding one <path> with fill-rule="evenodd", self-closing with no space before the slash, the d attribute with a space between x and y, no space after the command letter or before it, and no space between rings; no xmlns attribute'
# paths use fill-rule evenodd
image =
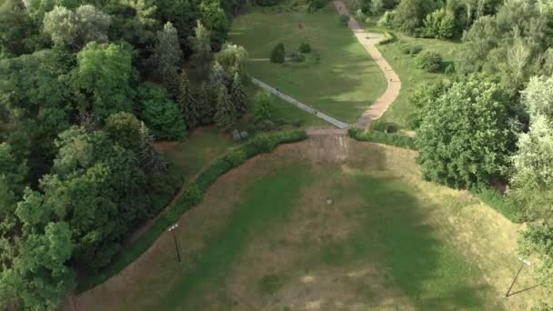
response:
<svg viewBox="0 0 553 311"><path fill-rule="evenodd" d="M110 24L110 16L97 11L93 5L81 5L75 12L56 5L45 14L44 30L55 45L77 50L92 41L107 42Z"/></svg>

